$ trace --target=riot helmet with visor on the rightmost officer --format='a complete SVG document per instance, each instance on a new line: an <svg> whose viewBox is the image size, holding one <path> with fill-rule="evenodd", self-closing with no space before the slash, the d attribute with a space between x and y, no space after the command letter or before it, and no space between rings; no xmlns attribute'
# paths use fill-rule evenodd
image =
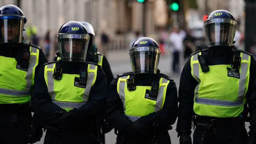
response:
<svg viewBox="0 0 256 144"><path fill-rule="evenodd" d="M236 33L236 20L226 10L215 10L204 21L204 30L208 47L232 46Z"/></svg>

